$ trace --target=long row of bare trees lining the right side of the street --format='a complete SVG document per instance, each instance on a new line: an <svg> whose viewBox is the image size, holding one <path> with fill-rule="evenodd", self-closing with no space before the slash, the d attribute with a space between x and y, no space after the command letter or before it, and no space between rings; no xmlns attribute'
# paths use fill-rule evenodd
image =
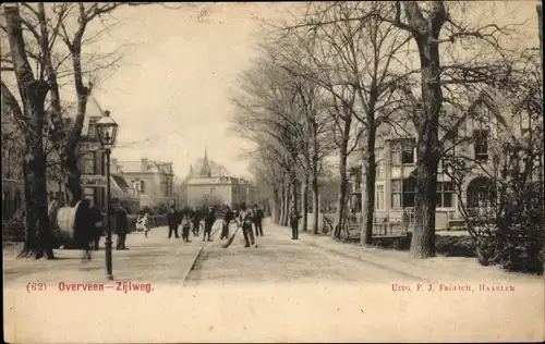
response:
<svg viewBox="0 0 545 344"><path fill-rule="evenodd" d="M346 221L347 159L358 147L365 176L361 242L371 244L377 140L385 134L411 136L417 157L411 255L434 256L439 165L451 174L470 173L459 168L460 159L469 158L452 153L474 139L462 127L499 123L509 130L506 109L534 118L543 113L535 106L542 84L532 78L541 71L537 50L512 45L528 27L496 23L493 13L501 5L313 2L295 11L291 22L267 23L263 56L241 76L234 96L234 124L256 144L255 171L270 186L279 222L286 223L289 204L299 205L300 194L306 213L307 185L316 201L324 159L335 153L340 181L332 236L339 237ZM496 99L491 97L506 99L505 107L481 111L495 103L485 101ZM501 145L505 136L499 136ZM543 146L534 149L532 157L543 156ZM471 173L477 167L473 162ZM461 196L464 189L458 192ZM314 221L314 233L316 226Z"/></svg>

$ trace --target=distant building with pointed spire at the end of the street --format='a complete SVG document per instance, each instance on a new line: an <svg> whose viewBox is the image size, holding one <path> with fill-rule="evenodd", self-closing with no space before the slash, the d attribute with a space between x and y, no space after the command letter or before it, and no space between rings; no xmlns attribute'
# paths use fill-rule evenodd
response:
<svg viewBox="0 0 545 344"><path fill-rule="evenodd" d="M197 161L195 168L191 167L185 184L190 206L256 201L255 186L245 179L229 175L226 168L208 160L206 149L203 159Z"/></svg>

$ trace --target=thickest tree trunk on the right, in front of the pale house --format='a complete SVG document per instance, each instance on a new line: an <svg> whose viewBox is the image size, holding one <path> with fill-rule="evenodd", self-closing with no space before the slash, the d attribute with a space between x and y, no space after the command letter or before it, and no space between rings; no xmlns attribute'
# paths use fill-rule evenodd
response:
<svg viewBox="0 0 545 344"><path fill-rule="evenodd" d="M443 90L439 78L439 49L437 44L429 42L433 38L425 36L417 40L422 66L424 113L416 121L419 139L416 143L415 226L411 241L411 256L415 258L435 256L435 197L440 159L438 132Z"/></svg>

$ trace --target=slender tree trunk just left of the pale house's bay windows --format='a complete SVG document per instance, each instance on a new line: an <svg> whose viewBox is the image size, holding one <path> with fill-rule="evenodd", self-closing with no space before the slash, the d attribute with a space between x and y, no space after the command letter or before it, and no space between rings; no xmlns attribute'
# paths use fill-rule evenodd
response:
<svg viewBox="0 0 545 344"><path fill-rule="evenodd" d="M362 235L360 244L371 245L373 241L373 216L375 212L375 181L376 181L376 161L375 161L375 123L370 121L367 143L364 150L365 171L365 192L363 196L362 211Z"/></svg>

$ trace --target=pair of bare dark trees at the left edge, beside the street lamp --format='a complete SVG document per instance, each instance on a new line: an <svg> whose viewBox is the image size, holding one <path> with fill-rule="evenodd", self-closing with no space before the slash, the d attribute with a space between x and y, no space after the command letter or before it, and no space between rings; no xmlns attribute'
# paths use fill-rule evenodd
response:
<svg viewBox="0 0 545 344"><path fill-rule="evenodd" d="M146 2L7 3L2 7L2 122L20 142L26 241L22 257L53 258L46 180L60 175L72 205L83 197L77 145L94 87L119 66L124 48L95 45L121 7ZM62 97L61 97L62 96ZM66 101L64 99L75 99ZM57 170L57 173L52 171Z"/></svg>

